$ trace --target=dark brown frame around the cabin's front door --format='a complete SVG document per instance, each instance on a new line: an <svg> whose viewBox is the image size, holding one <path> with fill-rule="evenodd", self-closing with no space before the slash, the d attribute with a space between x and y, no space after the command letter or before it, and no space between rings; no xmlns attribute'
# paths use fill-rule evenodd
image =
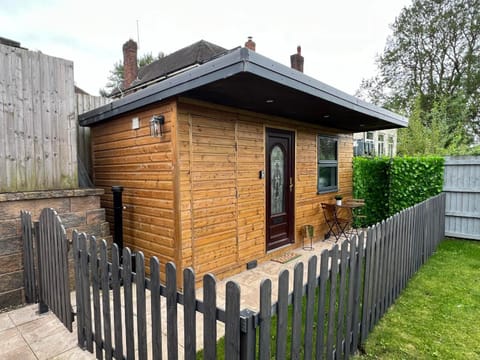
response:
<svg viewBox="0 0 480 360"><path fill-rule="evenodd" d="M278 136L289 139L289 148L287 149L287 167L292 178L293 189L291 192L287 192L288 196L286 197L286 211L287 213L287 223L288 223L288 232L287 232L287 241L283 241L280 244L273 244L269 247L271 228L270 228L270 218L271 218L271 195L270 195L270 148L269 148L269 139L270 136ZM265 127L265 250L266 252L274 251L280 247L287 246L295 243L295 141L296 141L296 132L289 129ZM288 176L285 179L285 189L288 189L289 186Z"/></svg>

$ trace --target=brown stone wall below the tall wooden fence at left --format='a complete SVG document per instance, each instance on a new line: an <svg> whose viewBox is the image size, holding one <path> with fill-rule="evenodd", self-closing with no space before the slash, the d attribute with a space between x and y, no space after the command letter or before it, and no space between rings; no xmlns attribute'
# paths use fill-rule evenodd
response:
<svg viewBox="0 0 480 360"><path fill-rule="evenodd" d="M54 208L69 239L77 229L111 240L100 207L103 193L101 189L0 193L0 309L25 301L20 210L30 211L32 220L38 221L42 209Z"/></svg>

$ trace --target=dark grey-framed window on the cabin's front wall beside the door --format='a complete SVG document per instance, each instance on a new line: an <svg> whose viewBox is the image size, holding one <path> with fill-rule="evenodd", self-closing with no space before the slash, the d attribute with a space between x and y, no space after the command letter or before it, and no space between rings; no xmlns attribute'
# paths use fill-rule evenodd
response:
<svg viewBox="0 0 480 360"><path fill-rule="evenodd" d="M317 191L338 189L338 140L336 137L317 137Z"/></svg>

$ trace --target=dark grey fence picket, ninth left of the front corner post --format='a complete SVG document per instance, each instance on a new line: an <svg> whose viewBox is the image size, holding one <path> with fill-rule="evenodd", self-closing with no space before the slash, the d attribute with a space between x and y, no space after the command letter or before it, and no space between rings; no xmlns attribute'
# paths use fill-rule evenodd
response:
<svg viewBox="0 0 480 360"><path fill-rule="evenodd" d="M102 275L102 319L103 343L105 358L111 359L112 353L112 323L110 314L110 273L108 271L107 242L100 241L100 274Z"/></svg>

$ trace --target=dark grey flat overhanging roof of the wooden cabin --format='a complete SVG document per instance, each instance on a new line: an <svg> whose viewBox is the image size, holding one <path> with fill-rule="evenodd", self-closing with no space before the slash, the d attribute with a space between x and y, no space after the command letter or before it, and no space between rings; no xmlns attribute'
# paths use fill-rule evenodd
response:
<svg viewBox="0 0 480 360"><path fill-rule="evenodd" d="M347 132L408 120L247 48L238 48L79 116L89 126L172 96L281 116Z"/></svg>

